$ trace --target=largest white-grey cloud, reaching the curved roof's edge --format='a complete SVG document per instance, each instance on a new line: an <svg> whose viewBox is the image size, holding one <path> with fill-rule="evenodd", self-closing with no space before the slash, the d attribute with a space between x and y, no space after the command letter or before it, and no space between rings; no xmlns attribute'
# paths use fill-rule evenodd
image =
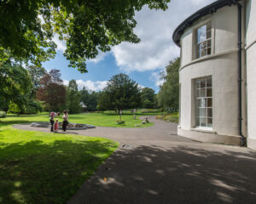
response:
<svg viewBox="0 0 256 204"><path fill-rule="evenodd" d="M214 0L172 0L166 12L144 7L136 14L135 33L138 44L122 42L112 49L117 65L123 71L154 71L164 69L179 56L179 48L172 42L172 33L190 14Z"/></svg>

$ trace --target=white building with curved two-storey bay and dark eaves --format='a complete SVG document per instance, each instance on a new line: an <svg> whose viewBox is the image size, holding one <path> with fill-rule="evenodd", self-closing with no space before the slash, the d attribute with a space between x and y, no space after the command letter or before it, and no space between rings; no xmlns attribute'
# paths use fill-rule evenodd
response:
<svg viewBox="0 0 256 204"><path fill-rule="evenodd" d="M218 0L173 33L181 47L177 133L256 149L256 0Z"/></svg>

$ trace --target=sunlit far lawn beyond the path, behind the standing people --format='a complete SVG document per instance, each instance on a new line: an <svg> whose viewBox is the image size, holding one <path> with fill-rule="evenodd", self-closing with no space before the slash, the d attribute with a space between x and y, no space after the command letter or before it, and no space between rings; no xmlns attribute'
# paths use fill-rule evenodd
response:
<svg viewBox="0 0 256 204"><path fill-rule="evenodd" d="M147 116L150 114L137 114L137 119L133 119L133 115L131 112L127 112L122 115L122 121L125 121L125 124L118 125L116 122L119 120L119 115L116 115L114 112L110 113L88 113L88 114L74 114L68 116L69 122L75 123L85 123L95 126L103 126L103 127L137 127L136 125L140 125L139 127L148 127L154 125L154 123L149 122L145 125L142 124L142 120L139 119L139 116ZM59 117L60 121L62 121L61 116ZM30 122L49 122L49 114L37 114L37 115L25 115L25 116L15 116L8 115L6 118L2 118L3 122L20 122L20 123L30 123Z"/></svg>

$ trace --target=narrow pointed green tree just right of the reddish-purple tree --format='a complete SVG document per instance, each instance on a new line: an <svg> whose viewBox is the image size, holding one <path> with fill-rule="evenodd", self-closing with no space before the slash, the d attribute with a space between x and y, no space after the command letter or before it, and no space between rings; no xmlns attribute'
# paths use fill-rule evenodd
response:
<svg viewBox="0 0 256 204"><path fill-rule="evenodd" d="M81 111L80 99L78 84L75 80L71 80L68 83L67 94L67 108L70 113L79 113Z"/></svg>

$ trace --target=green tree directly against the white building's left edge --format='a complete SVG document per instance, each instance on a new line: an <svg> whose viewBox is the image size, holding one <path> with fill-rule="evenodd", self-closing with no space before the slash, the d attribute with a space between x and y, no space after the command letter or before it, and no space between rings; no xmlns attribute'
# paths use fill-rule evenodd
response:
<svg viewBox="0 0 256 204"><path fill-rule="evenodd" d="M167 111L178 110L178 69L180 67L180 59L173 59L169 65L166 66L166 76L164 76L165 82L160 86L160 92L158 93L158 101L161 107L165 107Z"/></svg>

